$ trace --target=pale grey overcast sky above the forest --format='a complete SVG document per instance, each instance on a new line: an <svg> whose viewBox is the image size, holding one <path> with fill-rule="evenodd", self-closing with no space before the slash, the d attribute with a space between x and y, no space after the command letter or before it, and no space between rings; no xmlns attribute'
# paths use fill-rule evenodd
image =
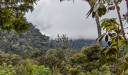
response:
<svg viewBox="0 0 128 75"><path fill-rule="evenodd" d="M40 0L27 19L51 38L66 34L70 38L94 39L97 37L95 20L86 18L88 3L82 0L64 1ZM122 11L124 12L124 11Z"/></svg>

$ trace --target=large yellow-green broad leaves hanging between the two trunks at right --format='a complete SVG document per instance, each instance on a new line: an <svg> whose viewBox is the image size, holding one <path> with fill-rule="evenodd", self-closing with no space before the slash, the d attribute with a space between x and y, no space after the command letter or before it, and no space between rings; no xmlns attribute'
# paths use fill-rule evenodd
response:
<svg viewBox="0 0 128 75"><path fill-rule="evenodd" d="M115 18L102 20L101 27L103 30L106 31L106 33L103 33L98 38L98 41L101 41L103 38L105 38L105 41L107 42L108 46L116 46L116 48L117 45L119 47L124 46L126 40L121 34L121 27L119 26Z"/></svg>

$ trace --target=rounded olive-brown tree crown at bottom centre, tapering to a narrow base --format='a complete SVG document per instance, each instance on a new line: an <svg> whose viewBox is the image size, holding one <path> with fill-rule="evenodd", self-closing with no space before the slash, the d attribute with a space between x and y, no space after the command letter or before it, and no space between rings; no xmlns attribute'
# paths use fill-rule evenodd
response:
<svg viewBox="0 0 128 75"><path fill-rule="evenodd" d="M56 74L62 60L64 60L63 51L60 49L49 49L44 56L39 59L39 62L50 67L52 74Z"/></svg>

